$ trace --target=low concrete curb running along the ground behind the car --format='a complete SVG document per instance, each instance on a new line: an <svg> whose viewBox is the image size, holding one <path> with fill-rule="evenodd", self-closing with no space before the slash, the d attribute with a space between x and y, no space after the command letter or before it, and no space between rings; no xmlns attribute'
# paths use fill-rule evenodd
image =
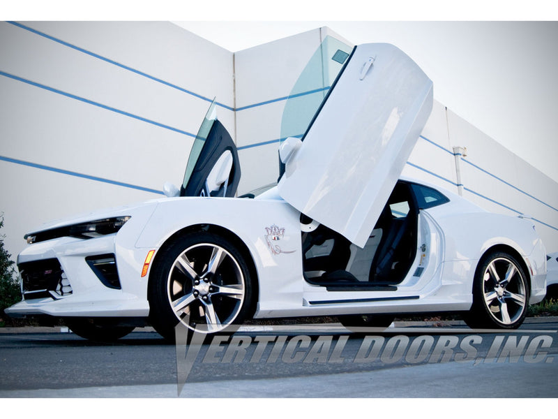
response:
<svg viewBox="0 0 558 419"><path fill-rule="evenodd" d="M547 316L547 317L528 317L525 319L524 324L536 324L536 323L552 323L558 322L558 316ZM293 328L299 328L301 325L293 325ZM339 326L342 327L341 323L324 323L315 324L314 327L319 326ZM423 327L423 328L444 328L450 326L465 326L465 322L461 320L448 320L448 321L395 321L393 322L393 327L395 328L407 328L407 327ZM257 326L256 326L257 327ZM284 326L283 326L284 327ZM155 332L155 329L151 327L146 328L135 328L135 333L146 333ZM24 326L22 328L0 328L0 334L21 334L21 333L71 333L65 326L56 326L54 328L49 328L45 326Z"/></svg>

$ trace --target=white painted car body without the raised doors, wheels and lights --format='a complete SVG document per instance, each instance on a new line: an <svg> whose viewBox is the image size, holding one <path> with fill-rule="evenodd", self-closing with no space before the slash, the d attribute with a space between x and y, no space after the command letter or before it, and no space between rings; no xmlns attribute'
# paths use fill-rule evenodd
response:
<svg viewBox="0 0 558 419"><path fill-rule="evenodd" d="M131 216L116 236L91 240L63 237L27 247L20 255L21 260L60 258L68 271L70 283L75 281L75 295L61 302L22 302L11 312L59 316L146 316L146 279L140 277L146 252L160 249L174 233L198 223L226 228L246 244L257 272L259 317L467 309L471 303L471 281L478 258L492 244L501 242L529 256L536 274L536 295L532 299L535 301L542 297L545 253L529 223L485 213L458 196L449 192L448 195L451 204L432 208L419 220L419 243L425 242L429 252L423 276L418 280L407 276L398 291L389 292L395 297L418 295L418 299L343 304L335 301L386 297L387 294L378 291L331 293L323 287L310 286L302 275L299 212L282 200L163 198L145 205L97 212L53 224L67 225L84 221L87 217ZM239 216L225 218L223 214ZM280 252L272 251L266 241L266 229L273 225L285 229L278 243ZM98 279L87 272L89 267L83 263L83 257L112 252L116 253L122 292L109 294L100 289ZM155 258L157 260L157 253ZM421 256L417 256L415 263L421 263L420 260L423 260ZM92 281L94 284L91 284ZM332 302L310 304L315 299Z"/></svg>

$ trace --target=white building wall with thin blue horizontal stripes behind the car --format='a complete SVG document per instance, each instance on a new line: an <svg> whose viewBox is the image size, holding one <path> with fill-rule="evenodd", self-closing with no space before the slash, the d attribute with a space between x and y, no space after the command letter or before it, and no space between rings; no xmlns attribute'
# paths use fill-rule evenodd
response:
<svg viewBox="0 0 558 419"><path fill-rule="evenodd" d="M168 22L0 22L0 212L15 253L38 224L181 183L209 102L239 147L239 193L274 182L285 101L327 28L232 53ZM343 40L342 40L343 41ZM347 41L344 41L348 43ZM404 174L529 214L558 251L558 184L435 103Z"/></svg>

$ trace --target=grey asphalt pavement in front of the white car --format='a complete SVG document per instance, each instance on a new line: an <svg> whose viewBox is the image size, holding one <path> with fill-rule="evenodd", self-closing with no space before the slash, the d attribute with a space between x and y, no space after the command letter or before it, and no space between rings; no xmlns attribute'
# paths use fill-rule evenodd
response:
<svg viewBox="0 0 558 419"><path fill-rule="evenodd" d="M177 351L150 329L114 344L2 330L0 397L558 396L558 318L506 333L421 322L371 334L247 328L194 347Z"/></svg>

